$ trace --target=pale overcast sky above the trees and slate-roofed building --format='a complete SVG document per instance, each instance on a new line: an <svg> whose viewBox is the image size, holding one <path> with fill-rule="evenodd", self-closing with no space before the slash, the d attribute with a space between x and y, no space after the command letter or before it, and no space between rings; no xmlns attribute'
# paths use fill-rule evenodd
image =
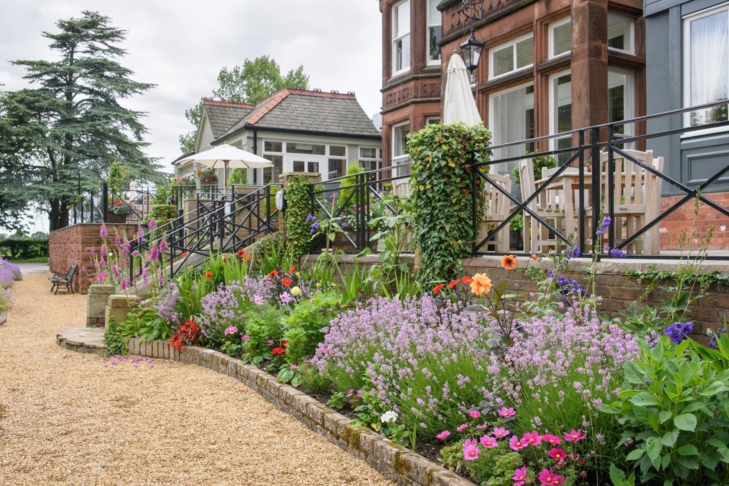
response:
<svg viewBox="0 0 729 486"><path fill-rule="evenodd" d="M178 135L192 130L184 111L211 96L217 73L270 55L284 73L303 64L310 85L356 92L364 111L380 110L381 14L375 0L0 0L0 83L26 87L11 60L54 60L41 31L95 10L128 31L122 64L157 84L122 105L147 111L147 152L165 170L179 156Z"/></svg>

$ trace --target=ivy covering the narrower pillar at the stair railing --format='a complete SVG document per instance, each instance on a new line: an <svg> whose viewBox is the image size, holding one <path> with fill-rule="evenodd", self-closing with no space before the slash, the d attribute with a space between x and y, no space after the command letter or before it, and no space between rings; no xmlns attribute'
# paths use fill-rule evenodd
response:
<svg viewBox="0 0 729 486"><path fill-rule="evenodd" d="M300 262L311 250L311 233L306 217L311 209L308 184L300 176L292 176L286 186L286 228L285 254L289 260Z"/></svg>

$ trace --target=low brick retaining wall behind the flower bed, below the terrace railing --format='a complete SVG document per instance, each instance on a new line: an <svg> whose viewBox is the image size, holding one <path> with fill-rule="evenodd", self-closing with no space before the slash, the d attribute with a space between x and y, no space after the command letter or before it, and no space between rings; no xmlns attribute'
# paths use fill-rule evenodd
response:
<svg viewBox="0 0 729 486"><path fill-rule="evenodd" d="M316 258L319 255L306 255L303 259L305 267L311 267ZM359 263L359 268L367 268L373 265L373 263L380 263L380 258L377 255L369 255L364 258L355 258L354 255L340 255L340 268L344 272L344 267L348 268L351 273L354 270L355 262ZM519 258L518 268L526 266L527 259ZM588 280L588 274L582 268L589 265L589 261L578 261L573 263L572 272L563 273L564 276L568 276L569 279L577 279L578 282L585 283ZM553 265L549 260L541 261L530 261L530 266L537 266L538 268L552 268ZM637 263L634 260L611 260L603 261L596 264L596 268L601 271L601 274L596 276L596 293L601 295L602 304L600 308L600 314L607 314L610 318L620 316L620 311L629 311L633 303L638 303L639 306L660 306L660 300L662 298L670 298L671 294L661 288L657 288L644 300L641 297L645 293L645 287L648 283L638 283L637 279L631 276L626 276L625 272L629 270L647 270L648 263ZM537 283L532 282L530 279L523 276L518 271L507 271L501 268L501 261L499 258L466 258L463 266L466 273L473 275L476 273L485 273L491 282L497 284L502 282L504 279L507 280L507 289L512 292L516 292L521 288L520 300L523 298L529 298L529 292L536 292ZM413 268L413 259L410 258L410 268ZM676 270L677 265L675 263L656 263L656 271ZM711 265L705 264L702 269L703 272L708 273L712 271L722 271L729 273L729 267L723 265ZM454 276L456 278L457 276ZM333 279L341 284L341 277L336 274ZM663 284L671 284L672 282L666 281ZM698 290L697 290L698 292ZM511 293L511 292L510 292ZM729 316L729 286L724 284L712 284L709 286L706 292L707 297L699 301L699 304L693 304L690 306L692 314L688 316L687 320L693 321L693 330L695 335L692 336L696 340L706 343L706 330L716 329L717 327L723 327L724 316Z"/></svg>

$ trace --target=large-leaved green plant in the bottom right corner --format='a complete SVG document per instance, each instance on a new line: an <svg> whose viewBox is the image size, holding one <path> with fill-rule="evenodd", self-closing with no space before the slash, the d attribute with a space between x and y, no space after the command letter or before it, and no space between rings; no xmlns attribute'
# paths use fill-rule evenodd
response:
<svg viewBox="0 0 729 486"><path fill-rule="evenodd" d="M729 479L729 370L717 373L689 340L675 346L664 336L654 348L638 340L640 356L626 361L618 401L603 411L625 426L621 442L641 480L663 485L726 484Z"/></svg>

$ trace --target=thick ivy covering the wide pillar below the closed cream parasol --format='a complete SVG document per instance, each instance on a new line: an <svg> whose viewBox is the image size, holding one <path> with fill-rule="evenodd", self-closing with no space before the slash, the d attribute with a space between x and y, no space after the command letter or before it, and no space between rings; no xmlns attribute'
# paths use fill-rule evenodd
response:
<svg viewBox="0 0 729 486"><path fill-rule="evenodd" d="M407 150L413 160L412 196L418 208L415 239L427 279L451 279L470 252L474 237L472 164L488 160L491 154L480 149L490 143L491 132L481 124L470 128L464 123L431 124L408 135ZM485 188L482 178L477 178L477 191ZM477 197L479 202L485 200ZM477 228L486 212L476 213L480 215Z"/></svg>

